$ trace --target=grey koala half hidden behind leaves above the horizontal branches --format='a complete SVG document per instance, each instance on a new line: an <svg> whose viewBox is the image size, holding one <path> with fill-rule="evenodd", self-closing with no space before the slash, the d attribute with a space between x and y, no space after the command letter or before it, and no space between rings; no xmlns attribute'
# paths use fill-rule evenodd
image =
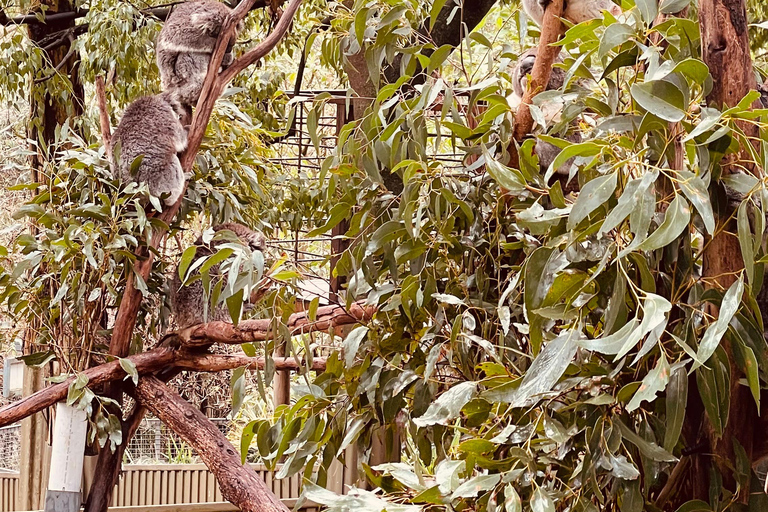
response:
<svg viewBox="0 0 768 512"><path fill-rule="evenodd" d="M250 228L243 226L242 224L227 223L214 226L213 230L216 232L228 229L232 231L240 241L250 247L253 251L264 251L266 249L266 238L260 231L254 231ZM216 247L219 244L225 243L223 240L215 240L206 245L203 243L203 237L199 237L195 242L197 250L195 251L195 257L192 259L192 265L200 258L210 256L216 252ZM219 266L214 265L209 271L211 277L216 276L219 273ZM200 279L197 279L190 283L188 286L182 286L182 280L179 277L178 268L174 270L173 281L171 282L171 309L174 317L176 318L176 324L179 329L197 325L205 321L230 321L229 312L225 304L220 304L213 310L208 308L208 317L204 315L206 306L206 296L203 290L203 283Z"/></svg>

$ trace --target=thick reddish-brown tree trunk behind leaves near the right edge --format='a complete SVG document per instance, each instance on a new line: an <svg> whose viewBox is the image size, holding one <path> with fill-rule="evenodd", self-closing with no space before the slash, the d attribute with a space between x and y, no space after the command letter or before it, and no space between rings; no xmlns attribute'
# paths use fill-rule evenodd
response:
<svg viewBox="0 0 768 512"><path fill-rule="evenodd" d="M736 105L751 89L756 87L749 51L747 31L747 11L745 0L700 0L699 19L701 20L701 44L704 62L712 74L712 91L707 97L710 105L727 108ZM749 135L756 135L751 126L743 126ZM728 157L723 162L723 174L740 172L740 169L753 169L746 148L740 154ZM744 268L741 259L739 241L735 235L734 223L725 219L732 212L725 211L718 223L722 229L709 241L704 252L703 277L718 287L726 289ZM722 223L726 222L723 226ZM712 311L716 313L716 311ZM728 424L722 437L714 435L709 424L706 425L707 440L711 446L712 460L723 475L725 485L735 490L732 469L736 467L734 441L738 441L751 460L754 425L756 423L755 404L749 389L740 383L743 375L733 357L733 351L727 339L723 340L731 365L731 388ZM696 467L696 466L694 466ZM695 479L705 479L707 474L692 475ZM741 490L739 500L746 503L749 489Z"/></svg>

